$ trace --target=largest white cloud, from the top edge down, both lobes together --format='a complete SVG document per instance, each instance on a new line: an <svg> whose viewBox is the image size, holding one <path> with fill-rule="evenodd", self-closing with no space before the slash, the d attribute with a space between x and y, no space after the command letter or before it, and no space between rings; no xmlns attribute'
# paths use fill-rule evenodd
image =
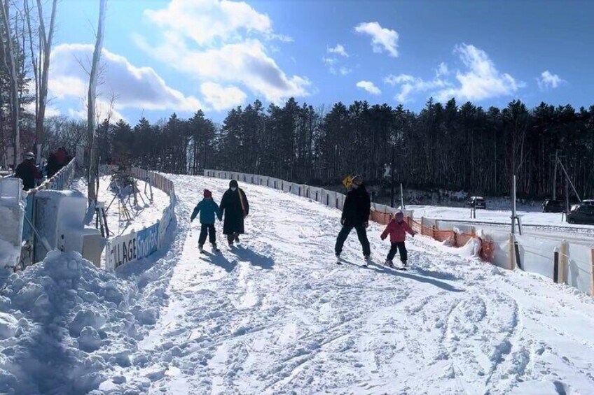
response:
<svg viewBox="0 0 594 395"><path fill-rule="evenodd" d="M148 42L137 35L137 45L199 82L242 85L274 102L310 94L310 81L288 76L261 41L291 38L276 34L268 15L246 3L171 0L166 8L146 10L145 15L160 28L163 40Z"/></svg>

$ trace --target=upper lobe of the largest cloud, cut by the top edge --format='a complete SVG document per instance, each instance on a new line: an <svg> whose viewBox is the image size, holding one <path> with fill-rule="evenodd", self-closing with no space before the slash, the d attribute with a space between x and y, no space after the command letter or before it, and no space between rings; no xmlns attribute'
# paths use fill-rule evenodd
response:
<svg viewBox="0 0 594 395"><path fill-rule="evenodd" d="M144 15L159 27L184 31L200 45L212 44L216 38L234 40L238 31L272 34L268 15L240 1L171 0L166 8L145 10Z"/></svg>

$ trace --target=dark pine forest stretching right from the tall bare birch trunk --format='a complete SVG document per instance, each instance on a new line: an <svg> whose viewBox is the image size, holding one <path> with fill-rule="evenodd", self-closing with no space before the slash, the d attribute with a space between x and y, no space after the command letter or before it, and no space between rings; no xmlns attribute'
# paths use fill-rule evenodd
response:
<svg viewBox="0 0 594 395"><path fill-rule="evenodd" d="M485 110L429 99L415 113L366 101L326 109L294 99L265 108L256 100L230 110L221 124L199 110L188 120L173 114L133 127L103 122L97 130L102 163L191 174L215 168L310 185L338 184L354 173L389 185L393 175L406 187L490 195L509 193L516 174L524 197L550 197L558 152L581 198L594 196L594 106L528 109L511 101ZM558 167L558 196L563 180Z"/></svg>

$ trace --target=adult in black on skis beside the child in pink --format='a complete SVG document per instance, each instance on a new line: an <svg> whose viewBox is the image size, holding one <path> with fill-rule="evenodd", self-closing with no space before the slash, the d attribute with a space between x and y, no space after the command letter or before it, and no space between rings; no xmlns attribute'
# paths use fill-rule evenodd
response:
<svg viewBox="0 0 594 395"><path fill-rule="evenodd" d="M336 238L336 257L340 257L340 253L343 252L343 245L345 240L354 228L357 230L357 236L359 236L359 242L363 247L363 256L368 259L371 255L369 248L369 240L367 240L367 227L369 221L369 213L371 212L371 199L363 185L363 177L357 175L352 180L352 189L347 193L347 199L345 199L345 206L343 208L343 217L340 223L343 224L343 229L340 229L338 238Z"/></svg>

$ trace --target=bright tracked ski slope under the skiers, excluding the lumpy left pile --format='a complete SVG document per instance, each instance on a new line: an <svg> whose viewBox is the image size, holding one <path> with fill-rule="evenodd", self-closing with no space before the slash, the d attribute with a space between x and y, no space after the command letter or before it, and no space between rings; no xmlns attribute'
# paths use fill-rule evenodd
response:
<svg viewBox="0 0 594 395"><path fill-rule="evenodd" d="M241 245L229 250L217 223L221 252L199 254L191 210L205 187L220 201L227 181L170 177L178 233L167 257L179 256L148 292L165 306L107 392L594 393L589 296L418 236L411 270L385 268L377 224L369 268L354 231L339 266L338 210L242 183Z"/></svg>

